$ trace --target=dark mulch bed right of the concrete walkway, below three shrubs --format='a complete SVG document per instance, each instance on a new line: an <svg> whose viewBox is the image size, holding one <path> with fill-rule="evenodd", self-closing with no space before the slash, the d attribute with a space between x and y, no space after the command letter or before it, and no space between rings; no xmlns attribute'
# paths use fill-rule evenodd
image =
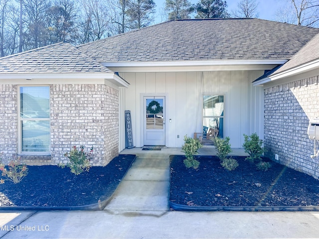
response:
<svg viewBox="0 0 319 239"><path fill-rule="evenodd" d="M199 168L186 169L184 156L171 156L170 202L188 206L318 206L319 181L276 162L267 171L245 157L227 171L215 156L197 156Z"/></svg>

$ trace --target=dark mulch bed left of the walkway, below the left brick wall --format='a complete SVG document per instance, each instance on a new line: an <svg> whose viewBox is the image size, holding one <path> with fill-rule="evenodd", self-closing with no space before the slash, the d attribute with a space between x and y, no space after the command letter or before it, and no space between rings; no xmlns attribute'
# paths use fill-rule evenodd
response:
<svg viewBox="0 0 319 239"><path fill-rule="evenodd" d="M21 182L6 180L0 184L0 206L74 207L98 203L113 194L134 159L135 155L119 155L105 167L94 166L79 175L67 167L28 166L29 173Z"/></svg>

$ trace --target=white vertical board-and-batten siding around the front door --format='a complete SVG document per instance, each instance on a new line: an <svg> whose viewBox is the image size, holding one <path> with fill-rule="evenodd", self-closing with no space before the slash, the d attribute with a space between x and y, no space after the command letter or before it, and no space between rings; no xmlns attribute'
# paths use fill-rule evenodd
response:
<svg viewBox="0 0 319 239"><path fill-rule="evenodd" d="M123 100L125 110L131 111L135 146L144 144L143 96L152 95L166 99L167 147L181 147L184 135L192 137L194 132L202 132L203 95L225 96L224 136L230 137L232 147L242 147L244 133L257 132L263 138L263 89L251 84L262 74L263 71L120 73L130 83Z"/></svg>

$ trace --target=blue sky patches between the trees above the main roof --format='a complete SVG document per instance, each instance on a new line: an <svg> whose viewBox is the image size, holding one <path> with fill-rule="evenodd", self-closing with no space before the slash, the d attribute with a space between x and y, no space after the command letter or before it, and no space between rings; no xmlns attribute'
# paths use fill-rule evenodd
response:
<svg viewBox="0 0 319 239"><path fill-rule="evenodd" d="M159 14L159 9L164 7L165 0L154 0L157 4L157 13ZM199 0L189 0L191 3L197 3ZM228 8L228 13L231 13L232 9L237 8L237 3L240 0L226 0ZM258 18L266 19L266 20L276 20L275 12L282 5L285 4L284 0L257 0L258 4ZM157 17L156 23L160 22L159 17Z"/></svg>

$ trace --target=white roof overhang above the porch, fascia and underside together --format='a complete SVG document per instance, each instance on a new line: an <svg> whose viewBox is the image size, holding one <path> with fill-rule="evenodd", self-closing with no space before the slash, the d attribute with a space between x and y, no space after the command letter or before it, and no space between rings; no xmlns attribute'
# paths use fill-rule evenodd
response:
<svg viewBox="0 0 319 239"><path fill-rule="evenodd" d="M202 61L134 61L102 62L116 72L173 72L220 70L267 70L281 65L287 59L202 60Z"/></svg>

